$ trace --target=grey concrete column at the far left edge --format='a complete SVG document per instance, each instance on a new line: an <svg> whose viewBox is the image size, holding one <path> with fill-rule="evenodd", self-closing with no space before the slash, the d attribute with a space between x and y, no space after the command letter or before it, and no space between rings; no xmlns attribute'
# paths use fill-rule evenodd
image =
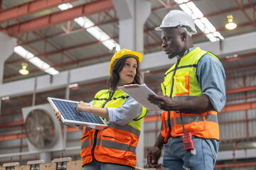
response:
<svg viewBox="0 0 256 170"><path fill-rule="evenodd" d="M14 52L16 40L16 38L11 38L9 35L0 32L0 84L3 83L4 62Z"/></svg>

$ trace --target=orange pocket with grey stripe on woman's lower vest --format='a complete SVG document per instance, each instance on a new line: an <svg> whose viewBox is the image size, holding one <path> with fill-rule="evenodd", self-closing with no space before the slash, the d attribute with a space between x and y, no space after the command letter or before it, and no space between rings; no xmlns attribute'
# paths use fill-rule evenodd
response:
<svg viewBox="0 0 256 170"><path fill-rule="evenodd" d="M109 133L102 132L99 153L111 155L111 157L124 158L128 155L130 142L130 137L124 135L110 136Z"/></svg>

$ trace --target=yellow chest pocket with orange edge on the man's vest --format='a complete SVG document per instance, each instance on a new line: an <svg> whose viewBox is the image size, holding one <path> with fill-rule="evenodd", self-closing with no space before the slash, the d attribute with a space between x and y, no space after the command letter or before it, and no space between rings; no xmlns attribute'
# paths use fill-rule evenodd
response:
<svg viewBox="0 0 256 170"><path fill-rule="evenodd" d="M174 76L174 95L188 95L189 94L189 72L190 71L180 71Z"/></svg>

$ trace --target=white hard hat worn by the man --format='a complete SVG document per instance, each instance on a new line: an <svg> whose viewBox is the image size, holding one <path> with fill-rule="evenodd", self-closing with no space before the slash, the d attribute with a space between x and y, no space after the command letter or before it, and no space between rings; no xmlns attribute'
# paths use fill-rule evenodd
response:
<svg viewBox="0 0 256 170"><path fill-rule="evenodd" d="M188 15L188 13L180 10L171 10L169 13L167 13L161 25L156 27L155 30L177 26L180 28L186 28L190 35L196 34L196 27L195 23L193 22L193 18Z"/></svg>

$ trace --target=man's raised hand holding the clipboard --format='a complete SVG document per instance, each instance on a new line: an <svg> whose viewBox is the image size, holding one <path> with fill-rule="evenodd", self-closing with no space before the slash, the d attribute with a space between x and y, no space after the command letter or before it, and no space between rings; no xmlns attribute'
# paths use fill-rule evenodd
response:
<svg viewBox="0 0 256 170"><path fill-rule="evenodd" d="M163 111L178 111L177 102L169 98L169 96L149 95L147 99L150 103L154 103L159 106Z"/></svg>

